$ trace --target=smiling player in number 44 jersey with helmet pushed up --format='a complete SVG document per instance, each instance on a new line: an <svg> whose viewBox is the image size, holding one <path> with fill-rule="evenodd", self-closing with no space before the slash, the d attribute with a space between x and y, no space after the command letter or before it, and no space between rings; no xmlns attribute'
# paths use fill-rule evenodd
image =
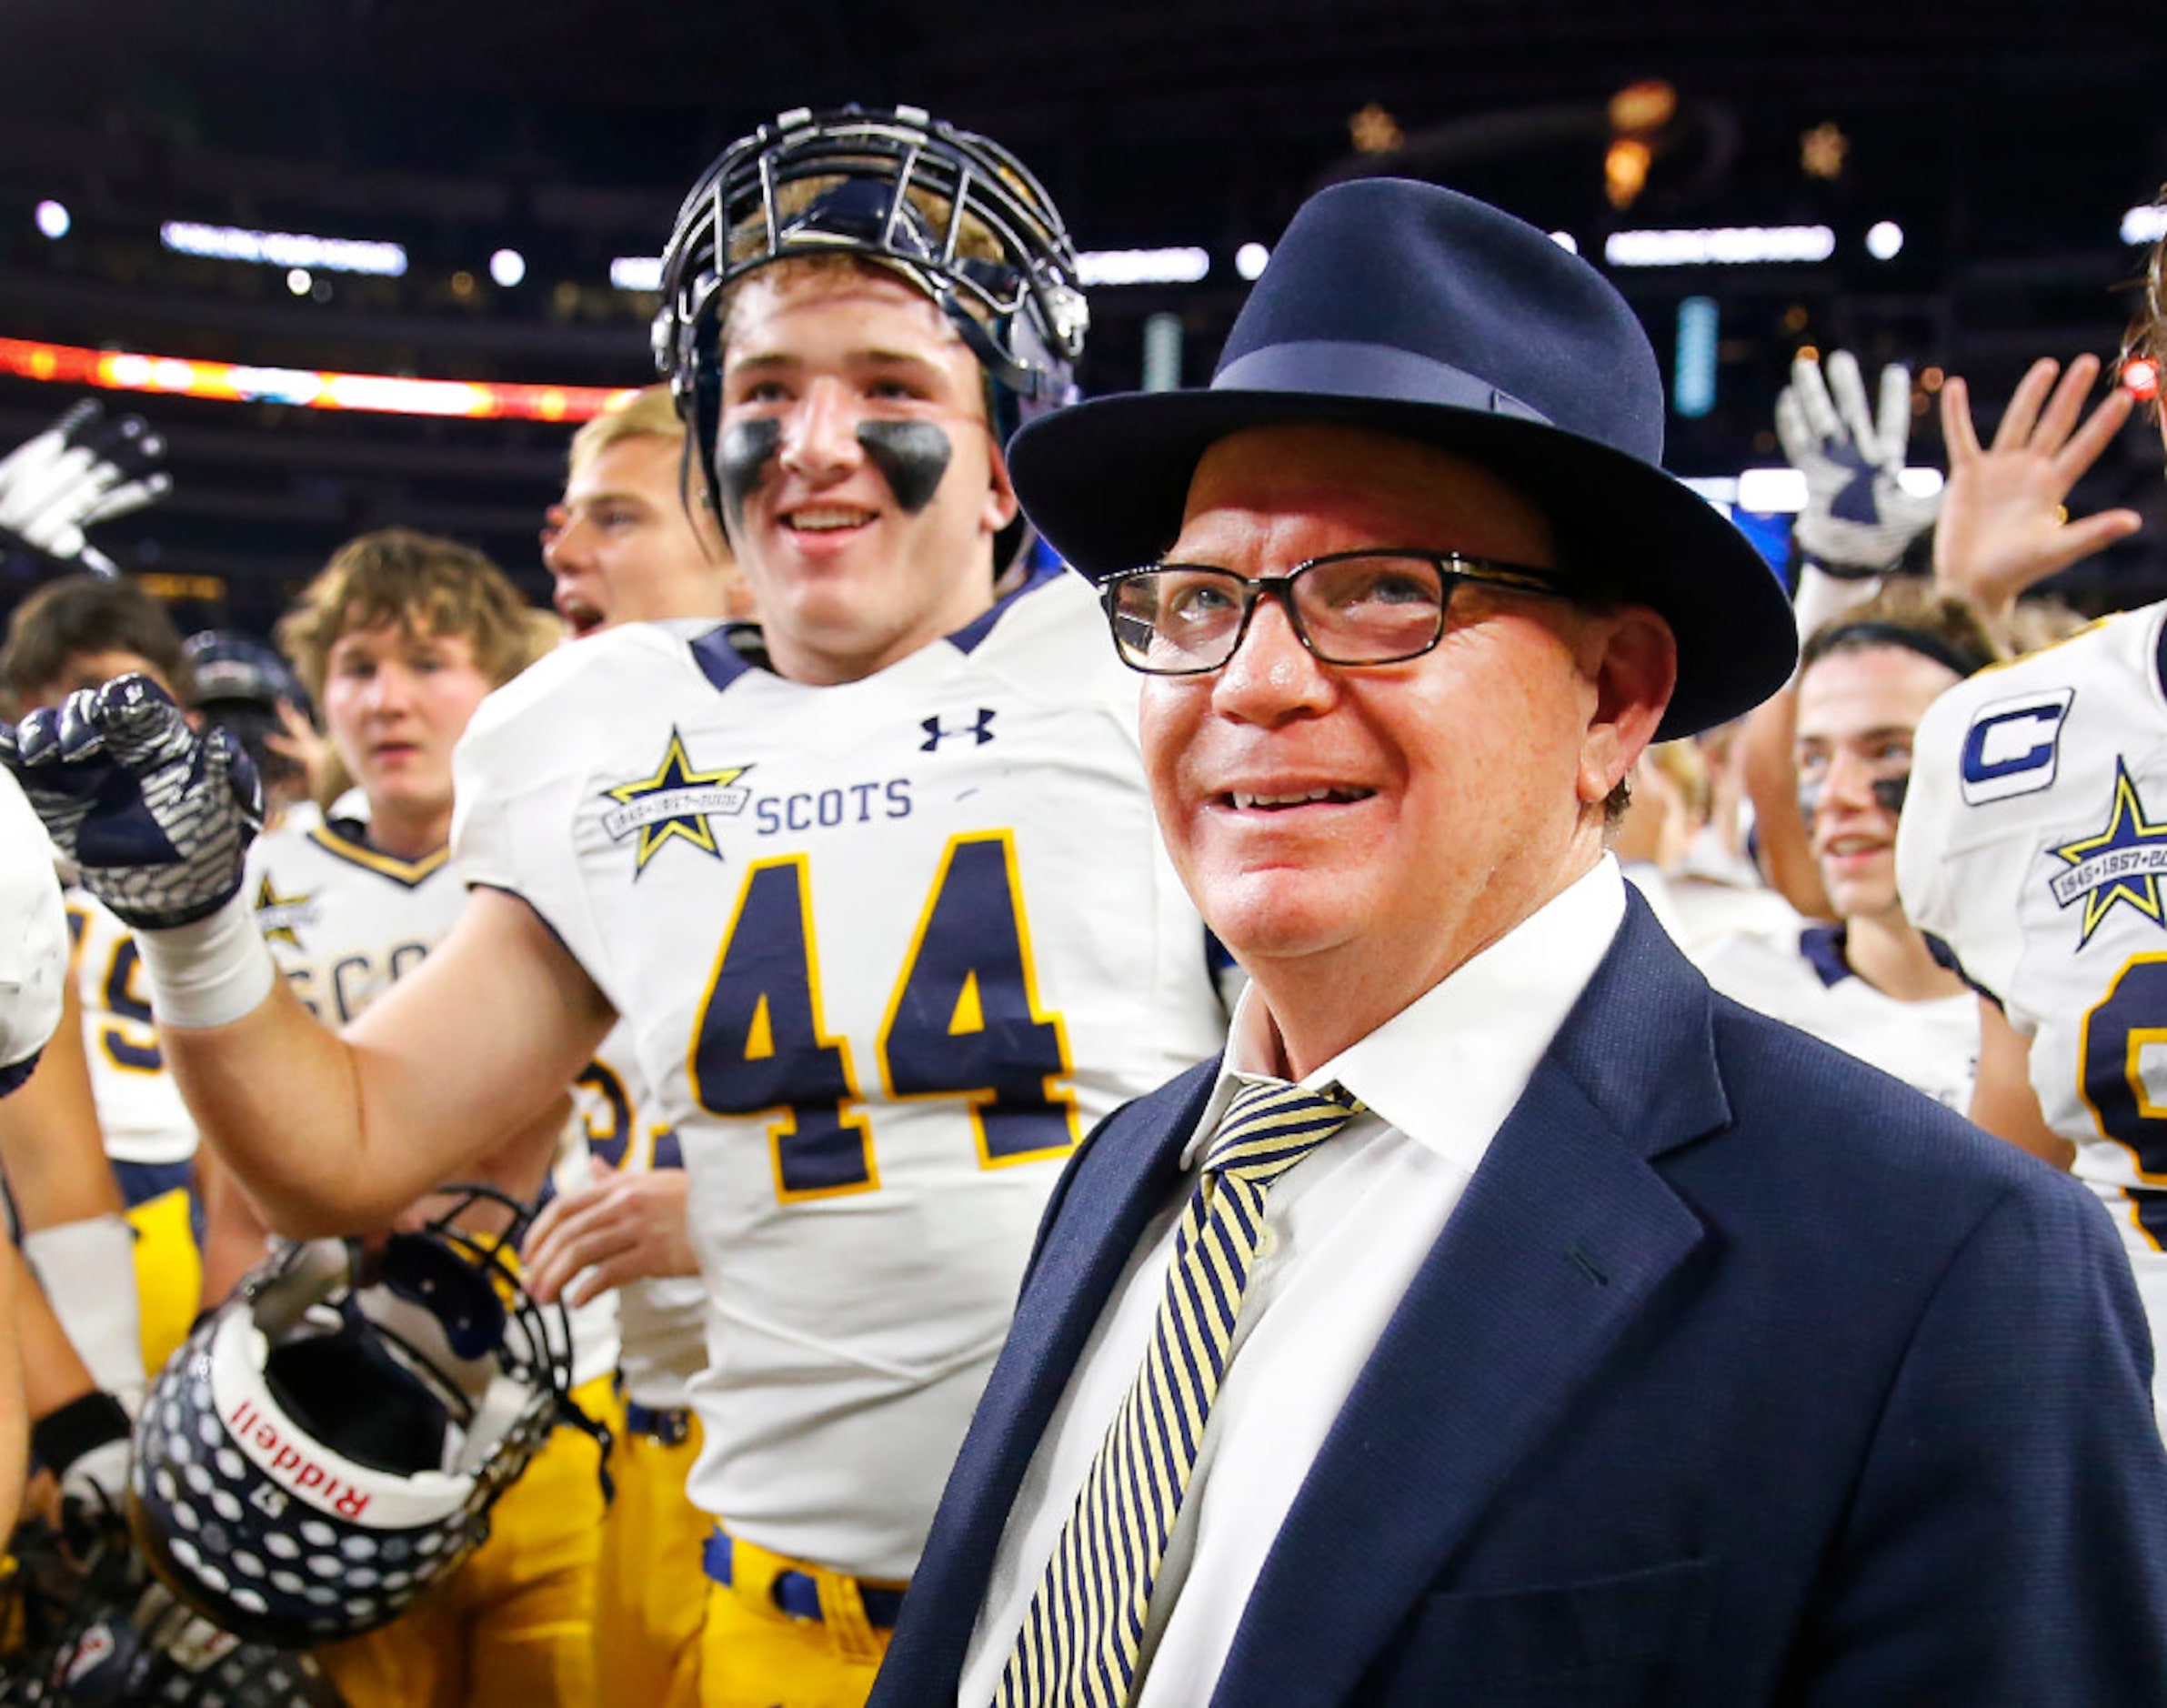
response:
<svg viewBox="0 0 2167 1708"><path fill-rule="evenodd" d="M121 683L0 741L156 939L191 1097L282 1225L390 1214L631 1023L709 1285L711 1708L862 1697L1062 1162L1224 1036L1136 687L1088 587L1018 557L1003 434L1068 392L1075 277L1023 165L925 113L722 156L657 342L761 629L626 624L492 696L477 893L345 1036L249 926L217 739ZM119 834L85 767L137 780Z"/></svg>

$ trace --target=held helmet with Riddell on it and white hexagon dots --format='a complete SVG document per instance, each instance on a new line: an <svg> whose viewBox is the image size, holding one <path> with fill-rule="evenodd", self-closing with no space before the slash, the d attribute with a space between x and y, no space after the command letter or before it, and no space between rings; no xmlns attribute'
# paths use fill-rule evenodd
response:
<svg viewBox="0 0 2167 1708"><path fill-rule="evenodd" d="M559 1422L563 1307L509 1259L524 1205L462 1186L377 1253L308 1240L258 1268L158 1372L137 1418L130 1522L152 1567L225 1630L358 1636L457 1567ZM475 1233L477 1205L509 1231Z"/></svg>

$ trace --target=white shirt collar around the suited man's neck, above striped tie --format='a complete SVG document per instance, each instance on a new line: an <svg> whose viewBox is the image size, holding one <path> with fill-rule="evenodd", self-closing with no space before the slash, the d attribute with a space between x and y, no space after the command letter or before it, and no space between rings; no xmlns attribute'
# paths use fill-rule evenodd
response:
<svg viewBox="0 0 2167 1708"><path fill-rule="evenodd" d="M1487 949L1357 1038L1302 1079L1346 1086L1378 1118L1461 1168L1474 1170L1534 1077L1597 962L1625 919L1625 880L1604 854ZM1242 991L1203 1121L1181 1153L1196 1166L1205 1138L1244 1079L1268 1079L1279 1051L1255 984ZM1450 1099L1437 1088L1452 1086Z"/></svg>

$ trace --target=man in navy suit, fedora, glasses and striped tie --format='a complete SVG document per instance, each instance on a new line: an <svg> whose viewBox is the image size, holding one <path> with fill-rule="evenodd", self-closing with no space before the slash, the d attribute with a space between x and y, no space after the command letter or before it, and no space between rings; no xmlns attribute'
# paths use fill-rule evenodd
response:
<svg viewBox="0 0 2167 1708"><path fill-rule="evenodd" d="M1712 995L1604 852L1792 663L1660 429L1593 269L1367 180L1211 390L1016 440L1250 988L1055 1192L875 1704L2167 1701L2100 1205Z"/></svg>

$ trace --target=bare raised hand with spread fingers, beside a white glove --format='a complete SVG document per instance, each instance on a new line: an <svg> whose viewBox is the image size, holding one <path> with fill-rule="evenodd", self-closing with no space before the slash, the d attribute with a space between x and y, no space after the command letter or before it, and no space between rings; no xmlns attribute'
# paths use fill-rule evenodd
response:
<svg viewBox="0 0 2167 1708"><path fill-rule="evenodd" d="M2130 418L2130 394L2115 386L2078 425L2098 377L2098 355L2078 355L2067 373L2041 355L2011 394L1989 449L1972 427L1965 384L1950 379L1942 388L1948 488L1933 579L1989 618L2007 616L2017 594L2143 525L2134 509L2080 520L2065 509L2069 488Z"/></svg>

